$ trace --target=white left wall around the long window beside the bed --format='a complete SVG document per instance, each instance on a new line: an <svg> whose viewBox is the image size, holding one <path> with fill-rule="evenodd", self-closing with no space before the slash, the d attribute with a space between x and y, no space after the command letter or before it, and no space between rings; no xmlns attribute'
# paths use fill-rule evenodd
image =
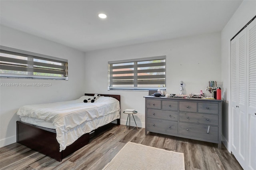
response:
<svg viewBox="0 0 256 170"><path fill-rule="evenodd" d="M42 38L0 27L0 45L68 59L68 81L6 79L0 83L51 83L50 87L0 86L0 147L16 142L16 111L23 105L77 99L84 94L84 53Z"/></svg>

